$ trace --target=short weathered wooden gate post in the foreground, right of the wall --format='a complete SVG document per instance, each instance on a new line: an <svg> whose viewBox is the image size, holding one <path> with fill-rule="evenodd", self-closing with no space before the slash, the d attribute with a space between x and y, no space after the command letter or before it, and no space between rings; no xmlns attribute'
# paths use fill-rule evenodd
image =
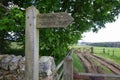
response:
<svg viewBox="0 0 120 80"><path fill-rule="evenodd" d="M63 80L73 80L73 62L70 56L64 59Z"/></svg>

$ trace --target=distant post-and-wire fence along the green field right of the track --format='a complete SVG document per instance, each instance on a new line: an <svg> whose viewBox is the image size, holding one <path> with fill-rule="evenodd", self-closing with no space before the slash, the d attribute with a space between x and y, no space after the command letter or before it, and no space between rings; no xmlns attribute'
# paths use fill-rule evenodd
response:
<svg viewBox="0 0 120 80"><path fill-rule="evenodd" d="M82 53L106 54L108 56L120 57L120 48L80 47L76 50Z"/></svg>

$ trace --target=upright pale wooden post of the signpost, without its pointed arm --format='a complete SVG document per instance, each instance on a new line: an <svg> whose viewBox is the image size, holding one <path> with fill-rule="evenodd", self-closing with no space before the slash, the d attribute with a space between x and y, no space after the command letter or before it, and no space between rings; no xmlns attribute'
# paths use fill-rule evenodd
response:
<svg viewBox="0 0 120 80"><path fill-rule="evenodd" d="M39 80L39 29L36 20L39 12L34 6L26 10L25 80Z"/></svg>

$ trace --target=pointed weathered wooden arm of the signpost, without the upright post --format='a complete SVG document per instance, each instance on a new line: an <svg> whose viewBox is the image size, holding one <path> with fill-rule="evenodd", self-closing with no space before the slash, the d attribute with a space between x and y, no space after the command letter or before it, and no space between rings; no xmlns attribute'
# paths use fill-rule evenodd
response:
<svg viewBox="0 0 120 80"><path fill-rule="evenodd" d="M65 12L39 14L37 17L37 28L67 27L73 20Z"/></svg>

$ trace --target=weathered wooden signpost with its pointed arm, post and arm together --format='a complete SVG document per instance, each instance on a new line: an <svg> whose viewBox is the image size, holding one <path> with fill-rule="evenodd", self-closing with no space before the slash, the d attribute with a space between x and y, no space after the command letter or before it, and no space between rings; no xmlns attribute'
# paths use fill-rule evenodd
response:
<svg viewBox="0 0 120 80"><path fill-rule="evenodd" d="M26 9L25 80L39 80L39 28L67 27L72 21L67 13L39 14L34 6Z"/></svg>

